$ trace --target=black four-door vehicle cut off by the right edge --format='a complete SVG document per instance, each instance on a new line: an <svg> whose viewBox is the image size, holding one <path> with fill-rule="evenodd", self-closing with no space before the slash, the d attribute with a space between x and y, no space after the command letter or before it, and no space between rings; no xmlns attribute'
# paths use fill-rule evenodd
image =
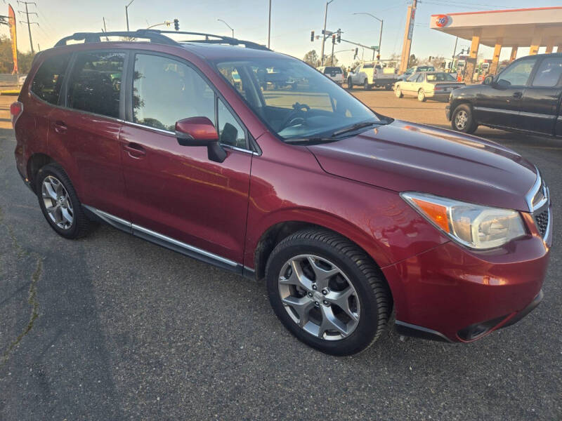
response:
<svg viewBox="0 0 562 421"><path fill-rule="evenodd" d="M562 137L562 53L519 58L480 85L455 89L445 112L457 131L478 125Z"/></svg>

